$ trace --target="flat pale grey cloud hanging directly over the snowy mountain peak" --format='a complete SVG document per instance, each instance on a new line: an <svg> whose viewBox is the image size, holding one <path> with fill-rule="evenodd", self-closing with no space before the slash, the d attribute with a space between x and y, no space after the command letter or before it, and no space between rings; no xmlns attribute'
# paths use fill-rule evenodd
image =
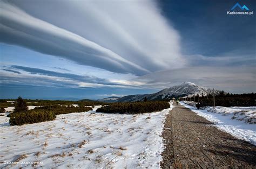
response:
<svg viewBox="0 0 256 169"><path fill-rule="evenodd" d="M163 89L185 81L233 93L256 91L256 69L251 66L197 66L165 70L133 79L143 87Z"/></svg>

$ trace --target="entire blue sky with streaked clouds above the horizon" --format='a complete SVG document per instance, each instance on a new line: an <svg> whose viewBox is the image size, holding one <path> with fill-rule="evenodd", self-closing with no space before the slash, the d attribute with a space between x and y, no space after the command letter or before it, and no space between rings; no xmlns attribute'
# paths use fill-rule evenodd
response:
<svg viewBox="0 0 256 169"><path fill-rule="evenodd" d="M227 15L235 3L253 15ZM0 1L0 98L255 87L255 1ZM234 11L242 11L234 9Z"/></svg>

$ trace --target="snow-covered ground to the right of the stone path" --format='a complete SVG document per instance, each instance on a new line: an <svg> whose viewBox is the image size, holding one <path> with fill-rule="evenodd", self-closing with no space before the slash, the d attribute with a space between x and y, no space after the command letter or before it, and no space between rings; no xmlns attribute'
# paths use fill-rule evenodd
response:
<svg viewBox="0 0 256 169"><path fill-rule="evenodd" d="M256 107L206 107L198 110L185 101L180 103L215 123L218 129L256 145Z"/></svg>

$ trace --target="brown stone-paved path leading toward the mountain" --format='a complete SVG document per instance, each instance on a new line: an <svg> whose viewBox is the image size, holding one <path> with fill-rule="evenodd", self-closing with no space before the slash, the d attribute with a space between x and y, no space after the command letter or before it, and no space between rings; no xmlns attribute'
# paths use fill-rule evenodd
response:
<svg viewBox="0 0 256 169"><path fill-rule="evenodd" d="M256 168L256 146L178 105L166 118L162 168Z"/></svg>

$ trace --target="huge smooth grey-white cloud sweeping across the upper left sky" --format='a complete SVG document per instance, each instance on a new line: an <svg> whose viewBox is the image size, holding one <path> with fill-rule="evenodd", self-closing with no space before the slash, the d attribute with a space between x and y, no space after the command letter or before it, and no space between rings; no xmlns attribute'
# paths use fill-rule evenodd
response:
<svg viewBox="0 0 256 169"><path fill-rule="evenodd" d="M3 43L116 73L145 75L185 64L179 34L151 1L1 3Z"/></svg>

